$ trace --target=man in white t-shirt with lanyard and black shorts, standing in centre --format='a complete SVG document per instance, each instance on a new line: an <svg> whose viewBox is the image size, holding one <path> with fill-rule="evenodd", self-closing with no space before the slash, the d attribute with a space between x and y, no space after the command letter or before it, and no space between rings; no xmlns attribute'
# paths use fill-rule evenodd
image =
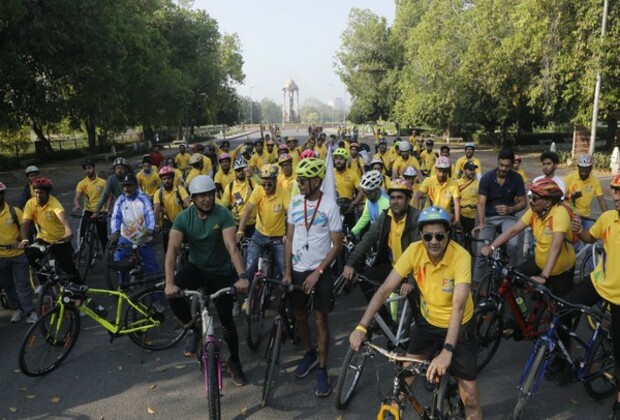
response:
<svg viewBox="0 0 620 420"><path fill-rule="evenodd" d="M328 313L333 309L333 286L329 267L342 247L342 222L338 206L321 192L325 162L308 158L295 169L300 195L291 200L282 282L303 287L291 292L291 307L306 353L295 370L297 378L317 371L318 397L327 397L331 385L327 375L329 350ZM314 290L314 321L318 336L318 355L313 349L308 325L308 295Z"/></svg>

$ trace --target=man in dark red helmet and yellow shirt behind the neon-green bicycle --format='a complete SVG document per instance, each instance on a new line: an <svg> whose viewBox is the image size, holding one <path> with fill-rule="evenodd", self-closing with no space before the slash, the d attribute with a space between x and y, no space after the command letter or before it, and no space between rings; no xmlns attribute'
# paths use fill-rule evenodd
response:
<svg viewBox="0 0 620 420"><path fill-rule="evenodd" d="M28 232L32 223L37 229L37 242L42 242L50 246L50 253L69 280L81 283L80 275L73 262L73 245L71 245L71 226L65 217L65 209L60 202L50 192L52 191L52 181L37 177L32 181L34 197L26 203L22 225L20 227L22 238L28 237ZM22 239L19 248L25 248L30 241ZM32 261L31 261L32 262Z"/></svg>

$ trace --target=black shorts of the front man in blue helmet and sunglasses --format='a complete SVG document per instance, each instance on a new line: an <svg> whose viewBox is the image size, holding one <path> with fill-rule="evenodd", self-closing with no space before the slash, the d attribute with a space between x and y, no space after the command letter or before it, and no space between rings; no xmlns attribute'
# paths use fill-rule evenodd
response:
<svg viewBox="0 0 620 420"><path fill-rule="evenodd" d="M435 327L424 317L419 319L411 329L409 336L409 354L432 358L438 349L443 348L446 340L447 328ZM459 379L473 381L478 373L476 363L476 333L473 318L461 326L459 339L454 346L450 372Z"/></svg>

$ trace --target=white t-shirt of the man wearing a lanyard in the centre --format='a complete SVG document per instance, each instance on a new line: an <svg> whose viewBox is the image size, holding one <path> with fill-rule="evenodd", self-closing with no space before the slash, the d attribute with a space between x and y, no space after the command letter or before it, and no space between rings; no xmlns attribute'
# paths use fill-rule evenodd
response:
<svg viewBox="0 0 620 420"><path fill-rule="evenodd" d="M304 212L303 195L291 199L287 222L295 226L293 235L293 270L297 272L316 270L332 247L331 232L342 232L340 209L327 195L323 194L318 213L314 211L318 200L307 201ZM305 214L304 214L305 213ZM312 225L310 222L312 221ZM306 230L306 225L310 229Z"/></svg>

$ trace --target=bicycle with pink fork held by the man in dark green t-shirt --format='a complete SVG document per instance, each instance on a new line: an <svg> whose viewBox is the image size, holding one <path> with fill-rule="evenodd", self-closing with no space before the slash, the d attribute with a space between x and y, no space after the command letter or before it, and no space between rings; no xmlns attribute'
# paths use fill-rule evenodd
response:
<svg viewBox="0 0 620 420"><path fill-rule="evenodd" d="M220 394L223 387L221 345L220 340L215 336L213 317L214 301L224 294L234 295L235 293L234 287L225 287L210 295L205 294L203 290L183 290L180 294L190 298L194 325L198 327L201 334L196 355L204 379L210 419L221 417Z"/></svg>

